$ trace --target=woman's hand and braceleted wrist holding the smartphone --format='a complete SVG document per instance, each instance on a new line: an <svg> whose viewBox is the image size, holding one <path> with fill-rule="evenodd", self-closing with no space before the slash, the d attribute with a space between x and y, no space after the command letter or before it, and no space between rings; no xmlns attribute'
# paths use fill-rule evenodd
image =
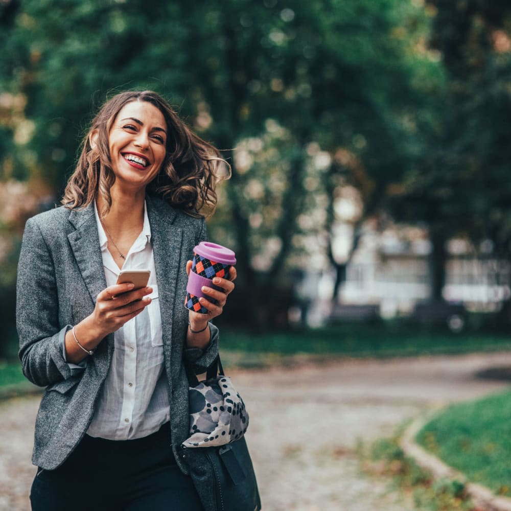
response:
<svg viewBox="0 0 511 511"><path fill-rule="evenodd" d="M133 290L133 284L115 284L98 294L94 312L75 325L75 332L70 330L65 335L65 352L67 362L79 363L85 357L85 350L95 347L108 335L119 330L126 322L140 314L150 303L147 296L151 287Z"/></svg>

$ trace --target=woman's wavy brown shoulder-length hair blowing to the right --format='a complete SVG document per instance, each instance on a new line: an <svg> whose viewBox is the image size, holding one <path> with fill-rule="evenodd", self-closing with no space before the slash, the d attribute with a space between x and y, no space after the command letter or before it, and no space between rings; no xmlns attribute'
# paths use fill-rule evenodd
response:
<svg viewBox="0 0 511 511"><path fill-rule="evenodd" d="M126 91L115 95L100 109L84 137L78 164L67 181L62 204L68 208L89 205L98 195L105 199L107 211L112 199L110 188L115 182L108 149L108 133L119 111L132 101L146 101L165 117L168 128L167 154L148 191L192 216L206 210L212 214L217 203L215 187L222 179L219 169L227 165L220 151L197 136L161 96L150 90ZM90 139L98 133L95 147Z"/></svg>

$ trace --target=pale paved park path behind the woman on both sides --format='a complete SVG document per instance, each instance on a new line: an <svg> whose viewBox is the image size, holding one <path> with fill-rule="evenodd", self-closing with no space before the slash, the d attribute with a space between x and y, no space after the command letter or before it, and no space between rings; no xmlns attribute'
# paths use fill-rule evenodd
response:
<svg viewBox="0 0 511 511"><path fill-rule="evenodd" d="M478 370L511 353L332 361L230 371L250 413L247 443L264 511L412 511L386 479L359 471L358 440L390 436L432 407L506 386ZM0 509L25 511L38 397L0 403Z"/></svg>

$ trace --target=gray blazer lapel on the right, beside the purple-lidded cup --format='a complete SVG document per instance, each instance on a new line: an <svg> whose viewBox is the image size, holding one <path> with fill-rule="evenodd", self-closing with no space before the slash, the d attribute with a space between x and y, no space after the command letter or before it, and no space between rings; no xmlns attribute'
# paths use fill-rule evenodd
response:
<svg viewBox="0 0 511 511"><path fill-rule="evenodd" d="M151 225L154 266L158 282L162 338L164 345L170 345L176 283L181 262L182 230L172 225L176 218L176 212L167 204L155 201L150 196L146 196L146 204Z"/></svg>

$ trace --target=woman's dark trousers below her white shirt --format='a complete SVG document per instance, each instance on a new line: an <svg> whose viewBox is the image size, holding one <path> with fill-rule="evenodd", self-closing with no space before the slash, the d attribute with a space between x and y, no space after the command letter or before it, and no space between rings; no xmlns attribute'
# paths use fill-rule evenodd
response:
<svg viewBox="0 0 511 511"><path fill-rule="evenodd" d="M202 511L176 464L168 424L135 440L85 435L56 470L37 470L30 500L33 511Z"/></svg>

